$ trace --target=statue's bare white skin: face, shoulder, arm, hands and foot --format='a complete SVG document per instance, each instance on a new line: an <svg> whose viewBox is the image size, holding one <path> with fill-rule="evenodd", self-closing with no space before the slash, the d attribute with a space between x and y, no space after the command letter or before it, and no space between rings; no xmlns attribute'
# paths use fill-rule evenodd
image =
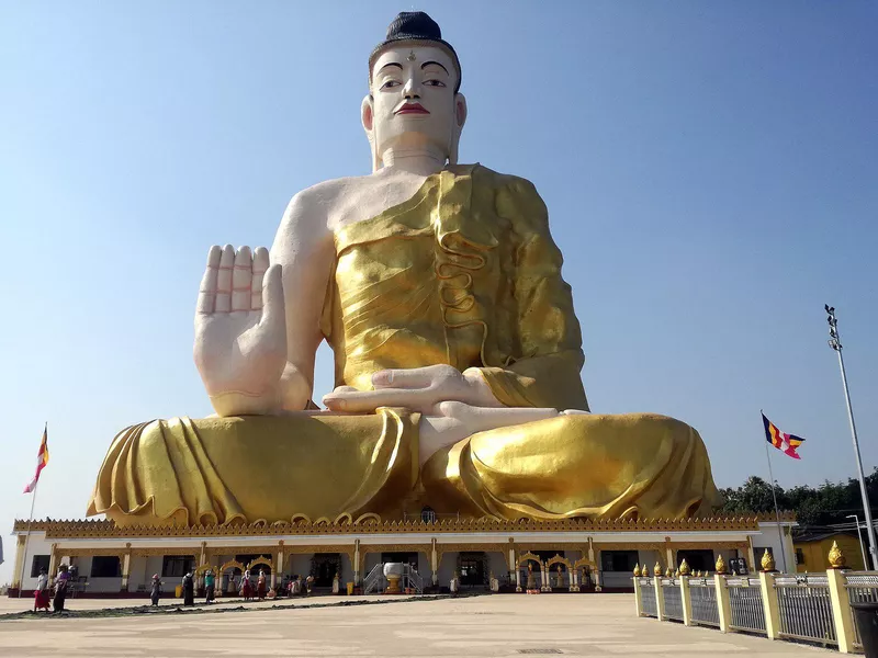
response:
<svg viewBox="0 0 878 658"><path fill-rule="evenodd" d="M323 340L318 326L335 264L334 231L403 203L453 161L466 120L455 81L454 64L442 48L385 49L374 63L361 111L374 172L296 194L270 254L261 247L211 248L195 314L194 358L217 415L304 413ZM477 368L380 371L372 385L369 392L338 387L323 402L340 413L378 407L420 411L421 464L475 432L558 415L504 407Z"/></svg>

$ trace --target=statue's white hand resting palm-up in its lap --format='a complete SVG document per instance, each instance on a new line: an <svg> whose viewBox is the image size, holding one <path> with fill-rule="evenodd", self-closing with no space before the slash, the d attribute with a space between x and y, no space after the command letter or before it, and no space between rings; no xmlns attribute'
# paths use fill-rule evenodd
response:
<svg viewBox="0 0 878 658"><path fill-rule="evenodd" d="M473 407L503 407L479 368L461 373L450 365L379 371L372 375L374 390L340 386L323 398L333 411L369 413L379 407L405 407L430 413L439 402L464 402Z"/></svg>

